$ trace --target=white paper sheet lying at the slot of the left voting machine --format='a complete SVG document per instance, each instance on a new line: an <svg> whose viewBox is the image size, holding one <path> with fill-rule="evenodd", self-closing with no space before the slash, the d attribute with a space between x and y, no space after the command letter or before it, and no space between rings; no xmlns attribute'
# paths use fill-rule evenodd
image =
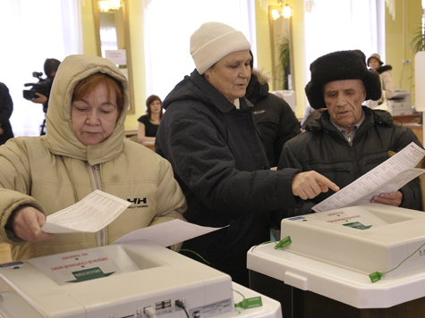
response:
<svg viewBox="0 0 425 318"><path fill-rule="evenodd" d="M149 226L148 228L133 230L131 233L124 235L122 238L115 240L113 244L146 239L161 247L170 247L173 244L177 244L191 238L196 238L220 229L223 228L209 228L207 226L200 226L175 219Z"/></svg>

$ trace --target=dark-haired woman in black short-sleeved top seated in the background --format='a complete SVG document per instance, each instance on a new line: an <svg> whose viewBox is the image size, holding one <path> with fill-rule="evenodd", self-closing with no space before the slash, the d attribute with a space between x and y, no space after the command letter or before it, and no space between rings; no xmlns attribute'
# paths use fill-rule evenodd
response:
<svg viewBox="0 0 425 318"><path fill-rule="evenodd" d="M157 128L161 122L163 115L162 101L159 96L151 95L146 100L146 115L139 117L138 139L140 144L151 146L155 149L155 137L157 136Z"/></svg>

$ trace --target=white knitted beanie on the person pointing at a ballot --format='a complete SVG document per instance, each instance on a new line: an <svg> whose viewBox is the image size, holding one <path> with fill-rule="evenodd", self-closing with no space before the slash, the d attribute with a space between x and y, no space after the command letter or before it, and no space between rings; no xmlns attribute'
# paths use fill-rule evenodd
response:
<svg viewBox="0 0 425 318"><path fill-rule="evenodd" d="M204 23L191 35L191 57L200 75L226 55L250 49L243 33L224 23Z"/></svg>

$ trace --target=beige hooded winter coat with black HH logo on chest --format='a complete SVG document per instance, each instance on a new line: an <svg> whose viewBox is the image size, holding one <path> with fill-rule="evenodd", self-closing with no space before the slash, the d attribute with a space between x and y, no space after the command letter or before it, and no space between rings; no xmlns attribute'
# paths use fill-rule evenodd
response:
<svg viewBox="0 0 425 318"><path fill-rule="evenodd" d="M84 146L72 130L72 91L81 79L97 72L123 83L126 102L112 135L98 145ZM85 55L68 56L61 63L50 94L47 135L18 137L0 146L0 234L2 241L13 245L13 260L108 245L132 230L183 219L186 201L170 163L124 139L127 108L127 80L114 64ZM20 205L49 215L95 189L132 201L98 233L56 234L53 240L31 244L5 229Z"/></svg>

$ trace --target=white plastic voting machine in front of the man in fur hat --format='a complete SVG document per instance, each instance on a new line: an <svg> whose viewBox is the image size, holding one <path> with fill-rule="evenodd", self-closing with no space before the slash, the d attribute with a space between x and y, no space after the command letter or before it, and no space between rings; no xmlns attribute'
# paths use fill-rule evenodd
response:
<svg viewBox="0 0 425 318"><path fill-rule="evenodd" d="M283 248L252 248L250 271L356 308L425 297L421 211L369 204L306 214L282 220L281 238L287 237ZM376 282L374 272L382 274Z"/></svg>

